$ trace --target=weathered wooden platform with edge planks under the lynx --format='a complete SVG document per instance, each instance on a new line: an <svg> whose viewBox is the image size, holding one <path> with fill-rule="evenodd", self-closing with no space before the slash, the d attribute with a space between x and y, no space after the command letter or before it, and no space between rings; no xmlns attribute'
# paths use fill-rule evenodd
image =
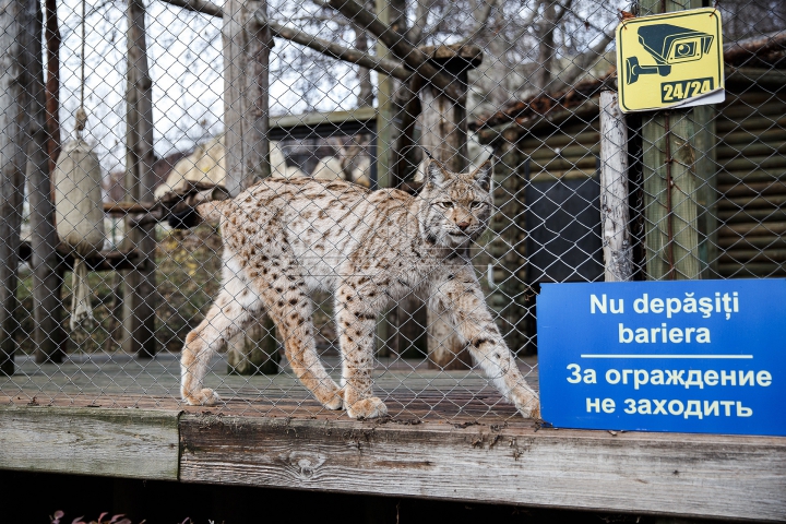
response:
<svg viewBox="0 0 786 524"><path fill-rule="evenodd" d="M355 421L287 372L231 377L221 359L216 408L177 401L172 356L17 364L0 468L786 521L786 438L539 429L472 371L384 362L393 416Z"/></svg>

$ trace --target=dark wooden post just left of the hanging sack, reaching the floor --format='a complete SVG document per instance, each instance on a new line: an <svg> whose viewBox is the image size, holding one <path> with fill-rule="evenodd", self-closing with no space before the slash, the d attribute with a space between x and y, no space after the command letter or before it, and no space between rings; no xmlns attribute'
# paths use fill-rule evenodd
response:
<svg viewBox="0 0 786 524"><path fill-rule="evenodd" d="M35 31L29 39L28 73L31 84L29 109L31 136L27 144L27 193L29 199L31 226L31 269L33 270L33 317L35 319L34 340L37 364L61 362L66 355L68 336L62 326L63 303L61 291L63 271L57 247L60 242L55 229L55 203L52 201L49 166L52 152L59 148L50 142L48 127L51 115L48 112L47 95L44 85L43 13L36 13ZM57 23L55 24L57 29ZM51 73L51 68L49 69ZM51 128L49 128L51 129ZM59 126L58 126L59 133ZM49 147L48 147L49 146Z"/></svg>

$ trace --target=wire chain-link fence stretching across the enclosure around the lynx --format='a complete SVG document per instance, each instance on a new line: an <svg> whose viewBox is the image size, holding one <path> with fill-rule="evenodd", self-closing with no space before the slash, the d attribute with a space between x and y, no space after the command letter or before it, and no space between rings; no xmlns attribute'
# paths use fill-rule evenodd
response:
<svg viewBox="0 0 786 524"><path fill-rule="evenodd" d="M689 3L5 1L0 402L537 416L615 28ZM708 7L726 100L624 121L626 278L786 273L786 8Z"/></svg>

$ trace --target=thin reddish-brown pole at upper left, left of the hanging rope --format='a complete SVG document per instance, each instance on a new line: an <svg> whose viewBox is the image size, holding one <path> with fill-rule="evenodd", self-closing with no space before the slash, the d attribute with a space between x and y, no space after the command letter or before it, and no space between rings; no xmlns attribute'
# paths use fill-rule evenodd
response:
<svg viewBox="0 0 786 524"><path fill-rule="evenodd" d="M60 155L60 28L57 21L57 0L45 0L46 4L46 151L49 154L49 174Z"/></svg>

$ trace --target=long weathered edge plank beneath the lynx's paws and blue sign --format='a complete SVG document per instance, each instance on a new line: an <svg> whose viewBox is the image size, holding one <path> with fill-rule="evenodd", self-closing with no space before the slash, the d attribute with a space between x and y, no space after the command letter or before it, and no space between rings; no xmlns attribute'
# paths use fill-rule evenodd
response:
<svg viewBox="0 0 786 524"><path fill-rule="evenodd" d="M184 415L180 434L191 483L786 519L783 438L212 415Z"/></svg>

